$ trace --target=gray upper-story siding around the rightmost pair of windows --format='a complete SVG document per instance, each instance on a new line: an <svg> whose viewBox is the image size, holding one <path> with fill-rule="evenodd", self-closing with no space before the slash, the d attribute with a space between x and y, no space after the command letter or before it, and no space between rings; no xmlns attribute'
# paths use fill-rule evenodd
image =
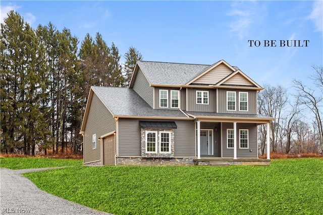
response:
<svg viewBox="0 0 323 215"><path fill-rule="evenodd" d="M236 110L227 111L227 91L236 92ZM239 111L239 92L248 92L248 111ZM219 113L257 114L257 91L219 89Z"/></svg>

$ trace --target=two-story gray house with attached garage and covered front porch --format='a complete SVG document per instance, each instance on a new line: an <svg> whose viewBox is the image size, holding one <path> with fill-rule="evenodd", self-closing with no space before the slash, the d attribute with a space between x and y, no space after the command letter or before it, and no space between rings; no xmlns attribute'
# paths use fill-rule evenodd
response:
<svg viewBox="0 0 323 215"><path fill-rule="evenodd" d="M274 120L257 114L261 90L224 60L138 61L128 88L91 87L81 126L84 164L269 165L269 148L258 159L257 125L270 133Z"/></svg>

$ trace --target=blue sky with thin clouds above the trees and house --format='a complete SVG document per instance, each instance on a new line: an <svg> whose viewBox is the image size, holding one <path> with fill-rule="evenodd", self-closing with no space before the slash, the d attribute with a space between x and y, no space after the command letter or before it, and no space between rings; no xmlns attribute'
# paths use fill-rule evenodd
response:
<svg viewBox="0 0 323 215"><path fill-rule="evenodd" d="M147 61L224 59L260 85L291 88L293 79L310 85L311 65L323 64L322 1L1 1L0 6L2 23L15 10L33 28L49 22L66 27L80 44L86 33L94 38L99 32L121 54L133 46ZM250 47L248 40L260 45ZM264 47L264 40L276 40L276 47ZM280 40L300 40L303 47L280 47Z"/></svg>

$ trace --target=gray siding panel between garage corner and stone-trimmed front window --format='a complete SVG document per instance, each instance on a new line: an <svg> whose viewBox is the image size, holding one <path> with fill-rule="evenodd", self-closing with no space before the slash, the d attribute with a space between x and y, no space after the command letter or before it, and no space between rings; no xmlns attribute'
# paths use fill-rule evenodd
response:
<svg viewBox="0 0 323 215"><path fill-rule="evenodd" d="M119 118L119 156L141 156L138 119Z"/></svg>

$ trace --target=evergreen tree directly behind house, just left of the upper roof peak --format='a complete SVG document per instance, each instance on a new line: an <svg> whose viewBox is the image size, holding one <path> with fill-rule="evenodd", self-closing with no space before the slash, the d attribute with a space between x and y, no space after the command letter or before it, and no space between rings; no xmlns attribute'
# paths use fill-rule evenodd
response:
<svg viewBox="0 0 323 215"><path fill-rule="evenodd" d="M134 47L129 47L128 52L124 55L126 62L124 66L124 73L126 77L125 85L129 85L132 77L133 70L135 68L136 62L138 60L142 60L142 54L139 53L139 51Z"/></svg>

